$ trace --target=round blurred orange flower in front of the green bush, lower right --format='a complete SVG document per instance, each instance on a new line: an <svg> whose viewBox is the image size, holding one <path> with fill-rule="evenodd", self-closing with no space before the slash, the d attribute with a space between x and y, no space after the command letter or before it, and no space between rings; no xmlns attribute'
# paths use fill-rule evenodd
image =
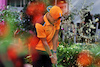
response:
<svg viewBox="0 0 100 67"><path fill-rule="evenodd" d="M80 66L88 66L92 64L93 57L86 51L79 53L77 63Z"/></svg>

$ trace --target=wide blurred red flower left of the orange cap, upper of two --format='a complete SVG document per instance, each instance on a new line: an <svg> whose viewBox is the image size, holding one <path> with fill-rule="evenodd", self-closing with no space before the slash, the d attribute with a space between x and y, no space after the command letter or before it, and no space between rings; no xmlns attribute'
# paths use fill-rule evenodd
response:
<svg viewBox="0 0 100 67"><path fill-rule="evenodd" d="M30 16L36 16L37 14L44 14L45 4L42 2L31 2L28 4L26 14Z"/></svg>

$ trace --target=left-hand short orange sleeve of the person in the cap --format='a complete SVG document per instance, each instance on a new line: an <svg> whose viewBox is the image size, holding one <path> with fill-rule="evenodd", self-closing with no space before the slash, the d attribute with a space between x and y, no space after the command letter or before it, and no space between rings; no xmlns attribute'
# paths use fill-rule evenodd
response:
<svg viewBox="0 0 100 67"><path fill-rule="evenodd" d="M45 38L46 37L46 34L44 32L44 28L41 24L36 23L35 28L36 28L38 38Z"/></svg>

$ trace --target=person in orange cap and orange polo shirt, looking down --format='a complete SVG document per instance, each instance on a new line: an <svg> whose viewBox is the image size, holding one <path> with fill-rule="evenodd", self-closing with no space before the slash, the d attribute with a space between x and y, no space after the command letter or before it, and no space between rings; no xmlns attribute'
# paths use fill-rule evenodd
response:
<svg viewBox="0 0 100 67"><path fill-rule="evenodd" d="M35 24L37 37L40 40L35 47L38 52L38 57L32 63L33 67L52 67L52 64L57 64L56 52L61 17L62 10L60 7L52 6L50 11L43 17L44 23Z"/></svg>

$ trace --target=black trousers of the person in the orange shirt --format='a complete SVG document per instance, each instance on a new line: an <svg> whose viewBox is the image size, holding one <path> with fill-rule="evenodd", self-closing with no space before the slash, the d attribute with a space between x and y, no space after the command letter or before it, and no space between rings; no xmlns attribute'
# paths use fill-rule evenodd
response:
<svg viewBox="0 0 100 67"><path fill-rule="evenodd" d="M34 54L33 54L34 56ZM33 67L52 67L51 59L45 51L38 51L38 59L33 62Z"/></svg>

